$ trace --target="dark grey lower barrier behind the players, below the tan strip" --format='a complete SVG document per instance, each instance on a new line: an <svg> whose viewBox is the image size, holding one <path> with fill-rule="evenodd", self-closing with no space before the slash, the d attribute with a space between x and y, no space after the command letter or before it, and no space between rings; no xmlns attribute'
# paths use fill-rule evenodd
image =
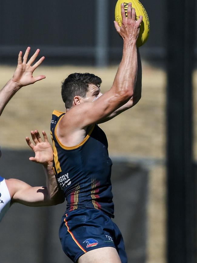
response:
<svg viewBox="0 0 197 263"><path fill-rule="evenodd" d="M42 166L30 162L30 156L31 151L2 150L0 175L24 180L32 186L45 185ZM144 263L146 259L147 186L147 170L132 163L114 161L114 222L122 231L128 262ZM62 251L58 237L65 208L66 202L54 207L14 204L0 224L1 262L72 262Z"/></svg>

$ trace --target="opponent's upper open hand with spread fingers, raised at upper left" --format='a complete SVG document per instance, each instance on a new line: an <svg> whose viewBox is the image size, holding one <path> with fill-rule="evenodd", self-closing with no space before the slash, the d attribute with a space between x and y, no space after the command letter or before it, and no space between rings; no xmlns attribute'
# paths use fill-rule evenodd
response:
<svg viewBox="0 0 197 263"><path fill-rule="evenodd" d="M34 55L28 60L30 47L28 47L25 51L22 61L22 51L18 54L18 65L12 77L12 81L17 83L18 86L23 87L29 84L33 84L38 80L45 79L44 75L40 75L37 77L33 77L34 70L42 63L45 57L40 58L34 65L32 65L37 58L40 50L37 49Z"/></svg>

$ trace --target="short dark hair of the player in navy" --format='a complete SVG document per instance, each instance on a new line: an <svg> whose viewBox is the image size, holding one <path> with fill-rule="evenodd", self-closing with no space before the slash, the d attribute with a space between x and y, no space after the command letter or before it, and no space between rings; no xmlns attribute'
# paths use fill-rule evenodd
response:
<svg viewBox="0 0 197 263"><path fill-rule="evenodd" d="M90 73L72 73L62 82L62 99L66 108L71 108L75 96L85 98L88 85L100 87L101 78Z"/></svg>

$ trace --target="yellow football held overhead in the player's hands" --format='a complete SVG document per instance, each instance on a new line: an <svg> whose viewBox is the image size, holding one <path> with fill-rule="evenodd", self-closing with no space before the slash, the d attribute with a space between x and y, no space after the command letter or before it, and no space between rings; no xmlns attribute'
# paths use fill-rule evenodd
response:
<svg viewBox="0 0 197 263"><path fill-rule="evenodd" d="M119 26L122 25L121 4L124 3L125 5L125 14L127 17L129 2L131 2L132 7L135 8L136 20L138 20L140 15L143 15L143 21L140 24L139 38L137 40L137 46L140 47L144 45L144 43L147 41L149 37L149 30L150 30L149 17L143 5L137 0L130 0L124 2L123 0L118 0L115 6L115 21L118 22Z"/></svg>

